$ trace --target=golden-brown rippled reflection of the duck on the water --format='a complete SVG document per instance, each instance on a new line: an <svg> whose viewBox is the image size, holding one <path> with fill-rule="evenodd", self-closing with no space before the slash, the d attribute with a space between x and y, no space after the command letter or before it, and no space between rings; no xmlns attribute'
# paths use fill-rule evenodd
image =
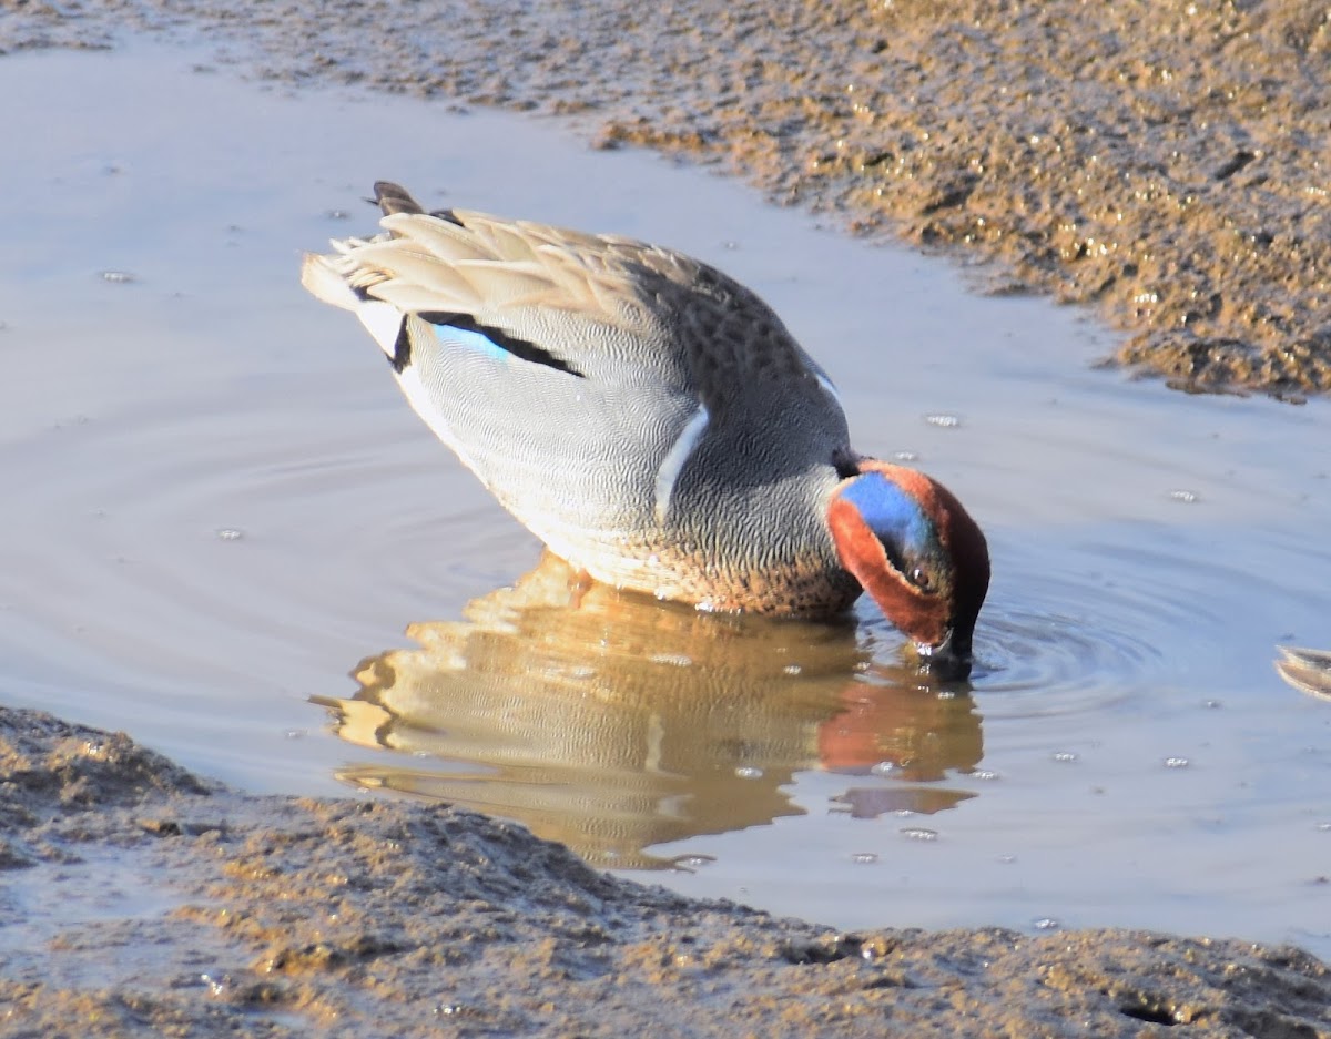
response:
<svg viewBox="0 0 1331 1039"><path fill-rule="evenodd" d="M878 778L974 768L980 721L969 696L874 661L849 621L700 613L582 585L550 555L463 616L362 661L351 698L314 697L343 740L410 756L339 778L514 818L615 867L803 814L785 793L800 770L872 776L837 798L856 816L972 796Z"/></svg>

